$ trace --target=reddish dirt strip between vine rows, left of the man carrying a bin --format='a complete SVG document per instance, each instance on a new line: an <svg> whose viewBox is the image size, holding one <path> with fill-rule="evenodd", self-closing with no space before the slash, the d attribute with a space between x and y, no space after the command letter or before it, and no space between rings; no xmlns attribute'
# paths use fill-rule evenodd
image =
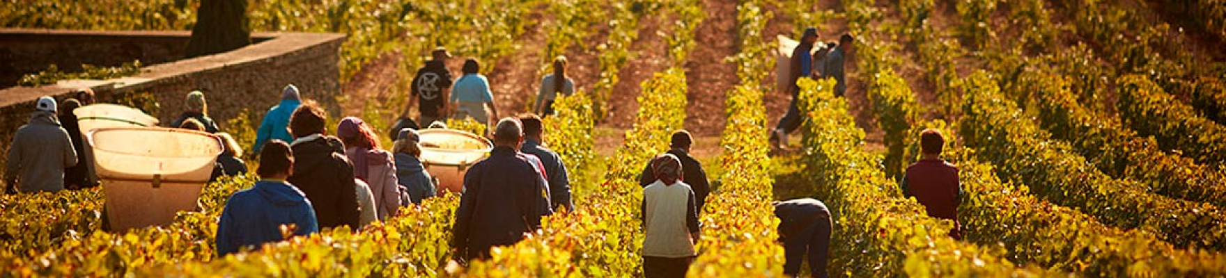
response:
<svg viewBox="0 0 1226 278"><path fill-rule="evenodd" d="M695 32L696 48L685 62L689 107L685 129L695 136L718 136L727 122L727 93L741 83L737 66L727 58L737 55L737 2L705 0L706 18Z"/></svg>

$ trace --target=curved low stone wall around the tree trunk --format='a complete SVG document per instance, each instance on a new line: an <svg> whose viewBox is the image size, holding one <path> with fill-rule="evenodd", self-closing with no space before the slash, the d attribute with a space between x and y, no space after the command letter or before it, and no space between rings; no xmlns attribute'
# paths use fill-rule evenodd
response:
<svg viewBox="0 0 1226 278"><path fill-rule="evenodd" d="M6 31L0 29L0 33L2 32ZM179 37L183 42L190 37L190 32L85 31L59 31L54 36L69 36L65 33L80 33L101 40L121 38L125 42L139 40L124 38L125 34ZM132 93L152 94L159 108L156 114L146 113L157 116L162 124L169 124L183 113L185 108L183 99L188 92L200 89L205 92L208 102L210 116L221 125L222 131L228 127L226 121L243 110L249 110L255 119L262 118L264 113L280 100L281 88L291 83L302 91L304 98L319 99L329 110L338 110L333 99L341 93L338 49L345 42L345 34L257 33L253 34L253 38L267 39L228 53L148 65L143 67L145 72L131 77L61 81L50 86L12 87L0 91L0 149L5 153L0 156L0 165L7 159L13 132L27 122L36 99L51 96L63 100L71 97L71 92L80 87L93 88L103 103ZM105 43L99 42L99 44Z"/></svg>

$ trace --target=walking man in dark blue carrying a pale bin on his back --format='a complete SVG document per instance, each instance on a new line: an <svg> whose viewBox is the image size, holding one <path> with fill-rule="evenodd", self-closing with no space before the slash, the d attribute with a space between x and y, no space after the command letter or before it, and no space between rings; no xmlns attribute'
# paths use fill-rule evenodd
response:
<svg viewBox="0 0 1226 278"><path fill-rule="evenodd" d="M787 133L801 127L801 109L796 107L797 94L801 87L796 85L801 77L813 76L813 44L818 42L818 28L809 27L801 36L801 44L792 49L792 76L788 76L787 92L792 96L792 102L787 104L787 114L779 119L779 125L771 132L770 141L775 148L787 146Z"/></svg>

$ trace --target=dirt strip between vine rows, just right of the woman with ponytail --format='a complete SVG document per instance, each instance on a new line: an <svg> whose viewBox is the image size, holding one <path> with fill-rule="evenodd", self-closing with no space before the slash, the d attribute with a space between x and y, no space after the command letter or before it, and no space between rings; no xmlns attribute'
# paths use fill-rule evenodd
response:
<svg viewBox="0 0 1226 278"><path fill-rule="evenodd" d="M600 125L617 129L634 126L642 81L668 69L668 45L660 37L672 33L672 24L664 23L672 22L668 17L671 15L666 12L653 12L651 17L639 21L639 38L630 43L631 59L618 71L618 83L609 96L608 114Z"/></svg>

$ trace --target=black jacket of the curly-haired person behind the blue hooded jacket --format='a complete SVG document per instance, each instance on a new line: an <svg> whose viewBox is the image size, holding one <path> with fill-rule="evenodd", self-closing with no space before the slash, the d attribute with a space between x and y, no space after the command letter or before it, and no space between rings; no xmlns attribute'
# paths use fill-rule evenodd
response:
<svg viewBox="0 0 1226 278"><path fill-rule="evenodd" d="M345 158L345 145L336 137L310 135L294 141L294 173L289 184L298 186L315 208L319 228L359 225L358 192L353 165Z"/></svg>

